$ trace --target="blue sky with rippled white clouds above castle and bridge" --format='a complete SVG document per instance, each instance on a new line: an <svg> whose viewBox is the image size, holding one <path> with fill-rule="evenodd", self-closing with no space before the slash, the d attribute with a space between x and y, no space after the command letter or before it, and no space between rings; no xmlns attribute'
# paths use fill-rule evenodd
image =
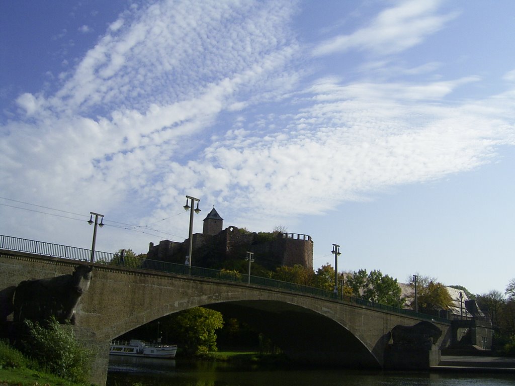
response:
<svg viewBox="0 0 515 386"><path fill-rule="evenodd" d="M144 253L189 195L194 233L214 206L311 235L314 269L336 243L504 292L514 38L511 0L1 0L0 234L91 248L95 212L97 250Z"/></svg>

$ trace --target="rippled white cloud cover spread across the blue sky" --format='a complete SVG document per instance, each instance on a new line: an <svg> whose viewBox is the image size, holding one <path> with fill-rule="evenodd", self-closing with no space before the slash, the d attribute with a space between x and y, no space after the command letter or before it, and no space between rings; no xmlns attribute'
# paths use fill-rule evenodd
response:
<svg viewBox="0 0 515 386"><path fill-rule="evenodd" d="M318 54L411 47L450 20L437 5L402 3ZM413 80L314 75L293 14L275 1L124 12L55 94L16 100L25 115L1 128L2 194L143 225L175 214L186 192L260 229L470 170L514 144L513 90L449 106L482 79L415 78L436 61L397 67ZM182 221L160 225L182 235Z"/></svg>

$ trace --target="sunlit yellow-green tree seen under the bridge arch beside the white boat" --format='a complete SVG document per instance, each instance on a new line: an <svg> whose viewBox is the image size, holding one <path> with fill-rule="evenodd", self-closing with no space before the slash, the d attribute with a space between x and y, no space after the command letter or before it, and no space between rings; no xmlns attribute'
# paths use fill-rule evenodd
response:
<svg viewBox="0 0 515 386"><path fill-rule="evenodd" d="M199 355L216 351L216 330L224 327L218 311L203 307L190 308L173 315L175 336L187 354Z"/></svg>

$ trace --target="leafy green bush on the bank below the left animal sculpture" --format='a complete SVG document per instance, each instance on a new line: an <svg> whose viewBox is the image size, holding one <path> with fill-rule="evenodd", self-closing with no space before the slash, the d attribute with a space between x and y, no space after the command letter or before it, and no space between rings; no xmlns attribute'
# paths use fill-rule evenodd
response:
<svg viewBox="0 0 515 386"><path fill-rule="evenodd" d="M22 351L50 373L76 382L85 382L90 373L92 353L76 339L71 325L61 325L54 318L45 326L24 321L28 336Z"/></svg>

